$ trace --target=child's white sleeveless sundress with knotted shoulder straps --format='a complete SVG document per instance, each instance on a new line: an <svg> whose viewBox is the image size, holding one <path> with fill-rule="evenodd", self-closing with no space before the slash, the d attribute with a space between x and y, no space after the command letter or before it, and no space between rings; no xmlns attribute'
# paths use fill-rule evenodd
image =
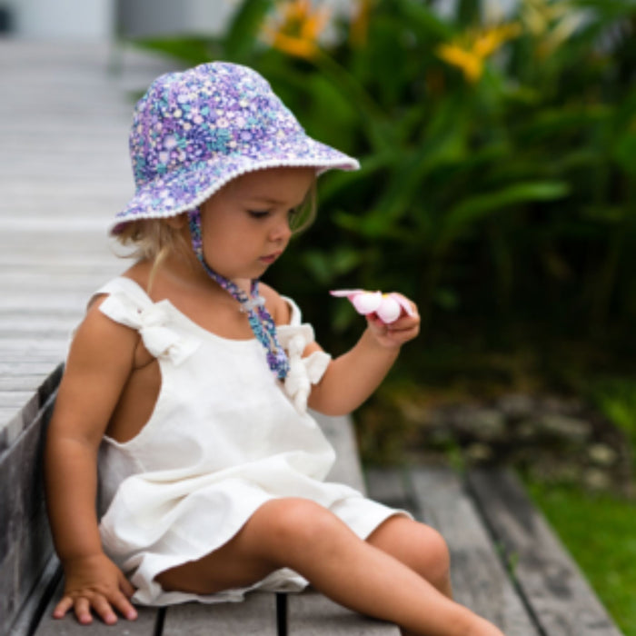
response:
<svg viewBox="0 0 636 636"><path fill-rule="evenodd" d="M134 439L104 437L99 450L99 530L104 551L130 577L133 601L241 601L246 591L300 591L289 569L253 586L206 596L164 591L160 572L196 561L224 545L264 502L302 497L331 510L366 538L404 513L349 486L324 482L334 452L306 412L310 383L330 356L301 358L313 329L292 308L277 332L292 371L286 385L270 371L256 339L229 340L204 330L167 300L154 303L128 278L116 278L101 311L137 330L159 362L162 386L148 422Z"/></svg>

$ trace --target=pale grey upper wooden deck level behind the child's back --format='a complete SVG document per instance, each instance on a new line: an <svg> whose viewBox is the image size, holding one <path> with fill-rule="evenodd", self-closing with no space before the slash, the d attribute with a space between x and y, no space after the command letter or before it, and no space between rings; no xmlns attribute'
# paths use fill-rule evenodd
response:
<svg viewBox="0 0 636 636"><path fill-rule="evenodd" d="M129 94L165 65L0 39L0 449L36 411L88 295L124 263L104 228L133 192Z"/></svg>

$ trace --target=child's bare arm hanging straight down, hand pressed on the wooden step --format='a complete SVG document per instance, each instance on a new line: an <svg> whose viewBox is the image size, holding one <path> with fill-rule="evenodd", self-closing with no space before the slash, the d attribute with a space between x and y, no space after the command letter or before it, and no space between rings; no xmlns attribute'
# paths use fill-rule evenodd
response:
<svg viewBox="0 0 636 636"><path fill-rule="evenodd" d="M91 622L91 609L107 623L113 607L136 613L133 588L102 550L95 500L97 451L134 364L137 334L114 323L94 303L78 329L55 402L45 450L46 499L56 552L65 570L65 593L54 616L75 609Z"/></svg>

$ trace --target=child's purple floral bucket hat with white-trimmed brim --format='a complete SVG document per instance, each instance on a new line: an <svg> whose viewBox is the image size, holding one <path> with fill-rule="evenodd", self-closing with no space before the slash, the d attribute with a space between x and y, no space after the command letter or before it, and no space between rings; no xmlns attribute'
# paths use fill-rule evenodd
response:
<svg viewBox="0 0 636 636"><path fill-rule="evenodd" d="M137 103L130 134L135 194L110 227L196 208L241 174L263 168L356 170L358 162L305 134L270 84L224 62L161 75Z"/></svg>

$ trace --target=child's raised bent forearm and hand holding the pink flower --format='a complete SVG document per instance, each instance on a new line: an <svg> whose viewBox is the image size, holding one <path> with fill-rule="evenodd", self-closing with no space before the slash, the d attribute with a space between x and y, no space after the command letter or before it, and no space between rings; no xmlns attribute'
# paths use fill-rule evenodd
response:
<svg viewBox="0 0 636 636"><path fill-rule="evenodd" d="M414 304L412 309L414 315L402 314L391 324L384 324L374 314L367 316L367 329L361 339L330 363L321 382L313 387L309 406L326 415L344 415L360 406L383 381L402 344L419 333L420 316ZM317 349L313 343L304 354Z"/></svg>

